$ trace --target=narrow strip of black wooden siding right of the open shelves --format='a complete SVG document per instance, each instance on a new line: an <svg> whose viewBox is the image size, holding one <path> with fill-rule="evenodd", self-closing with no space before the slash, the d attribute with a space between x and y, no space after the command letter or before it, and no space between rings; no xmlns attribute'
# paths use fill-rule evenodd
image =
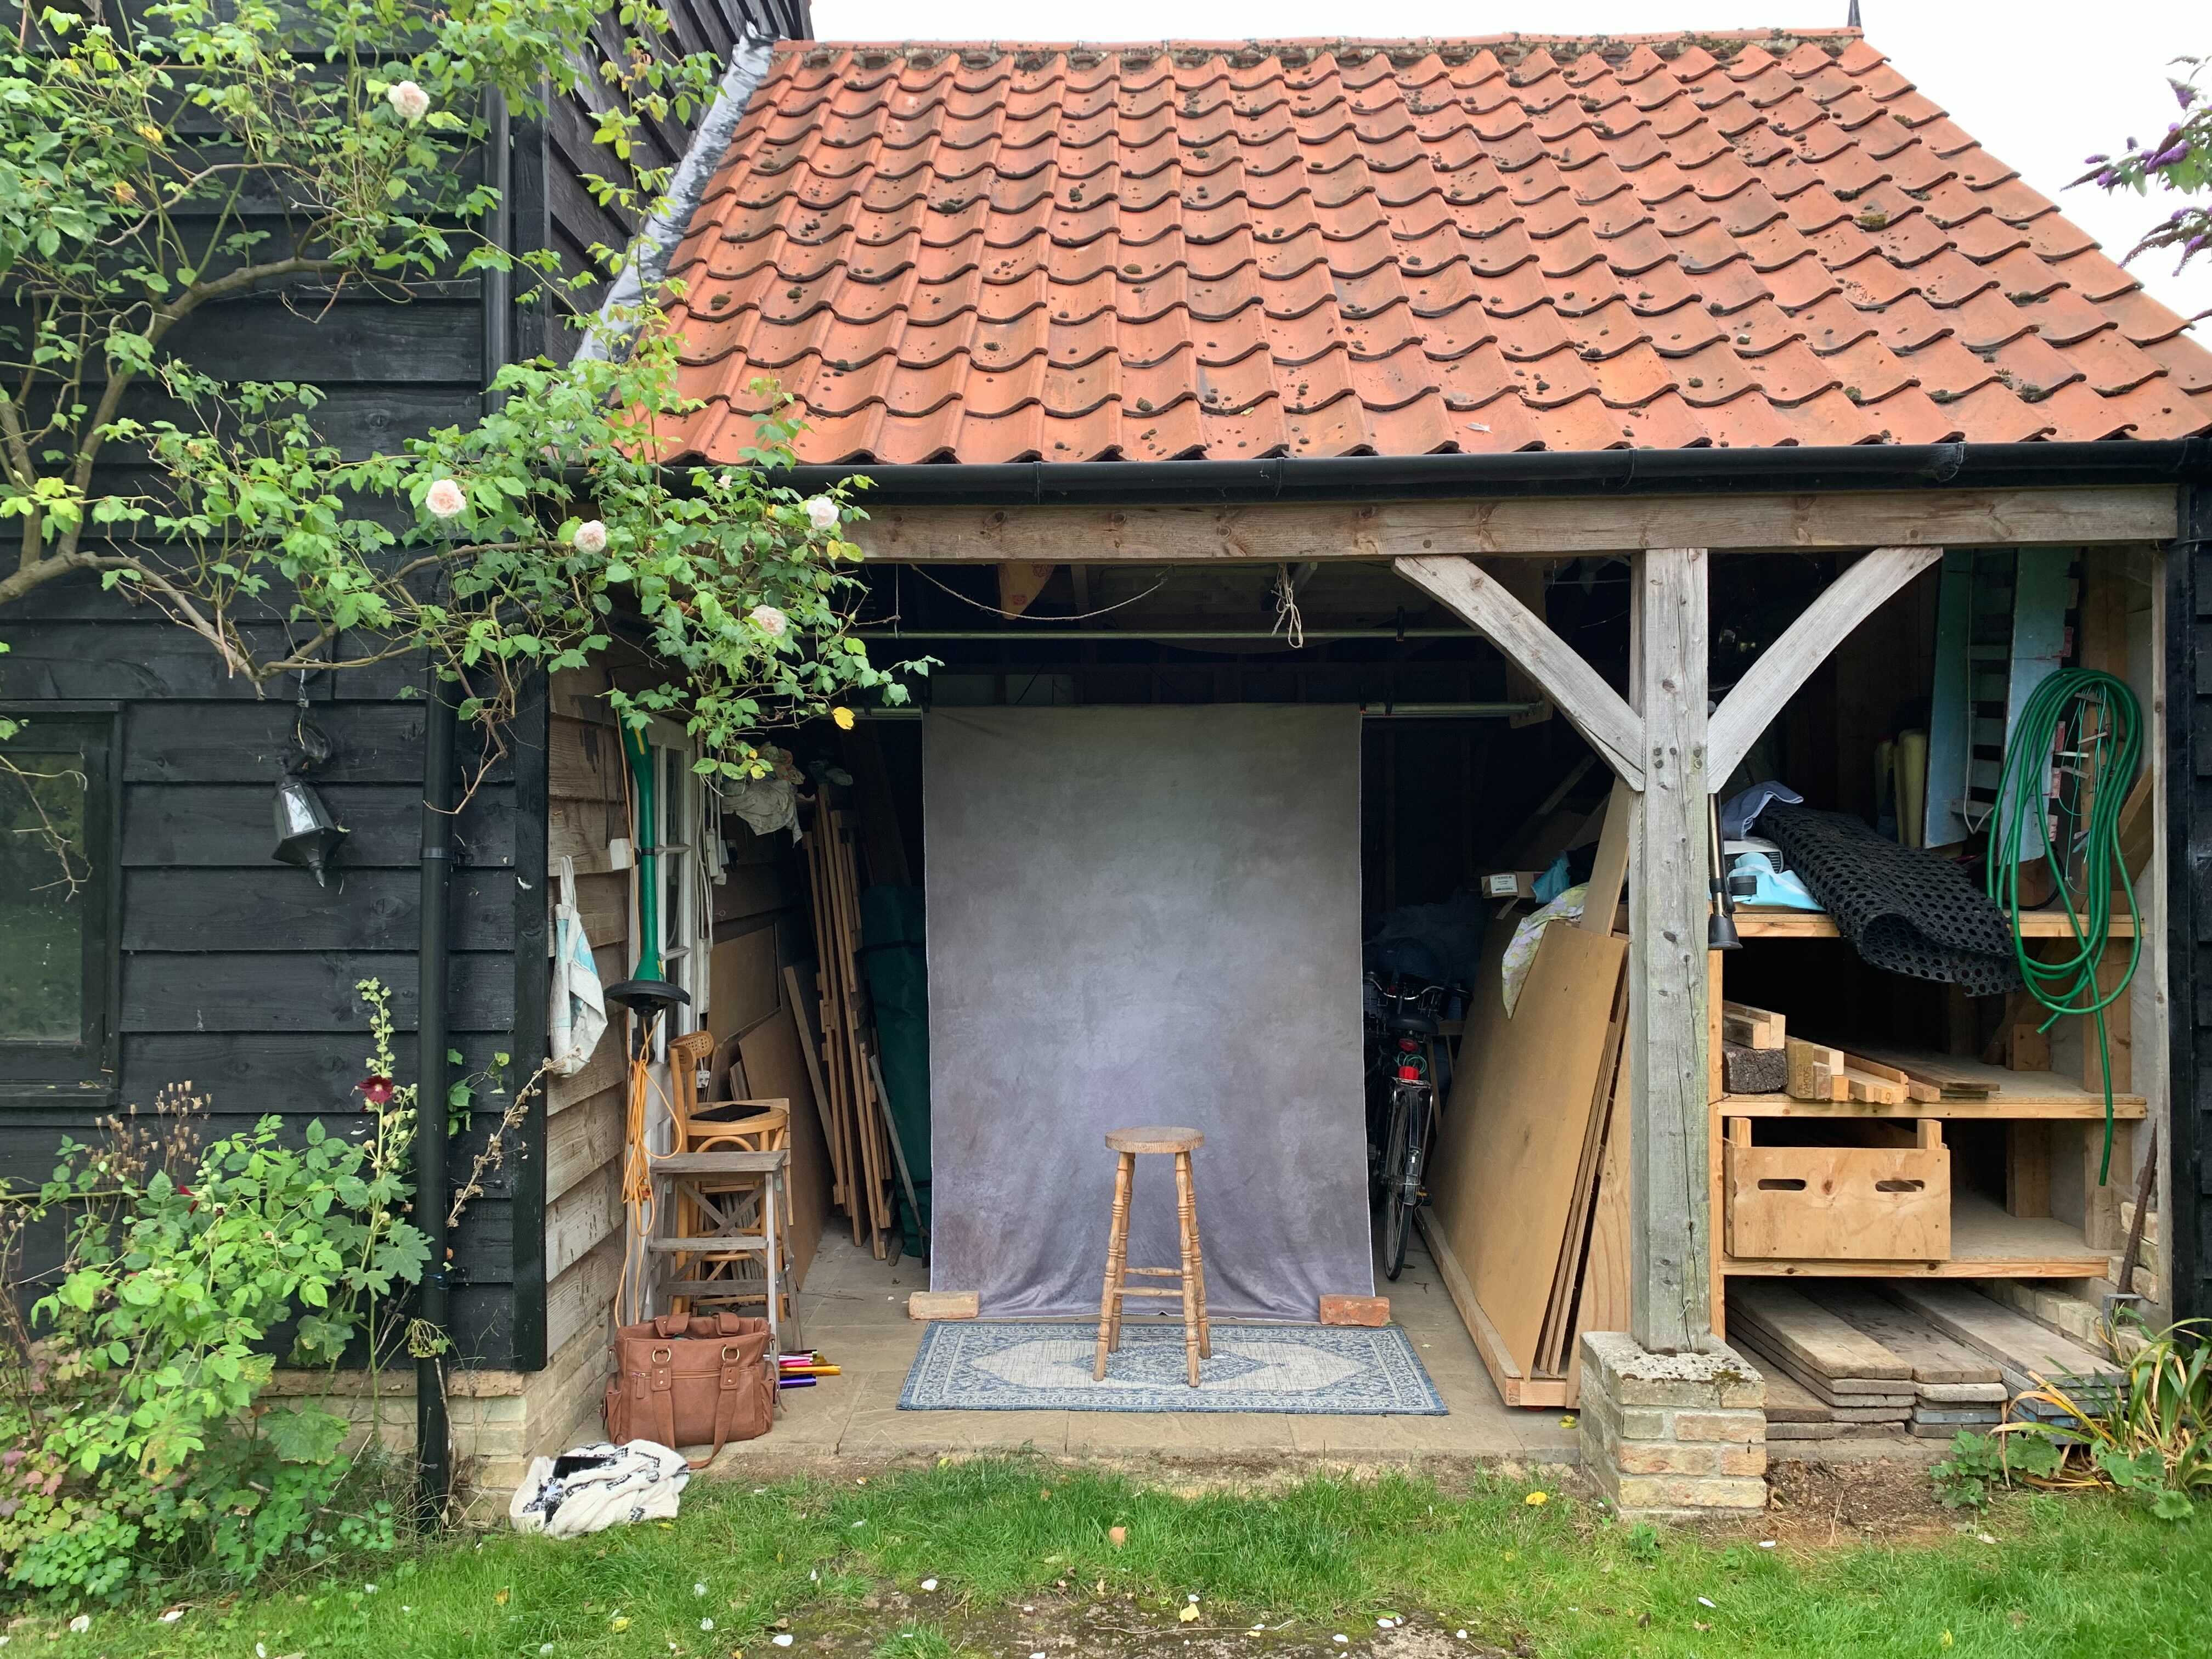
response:
<svg viewBox="0 0 2212 1659"><path fill-rule="evenodd" d="M2212 487L2166 560L2166 951L2174 1318L2212 1314Z"/></svg>

